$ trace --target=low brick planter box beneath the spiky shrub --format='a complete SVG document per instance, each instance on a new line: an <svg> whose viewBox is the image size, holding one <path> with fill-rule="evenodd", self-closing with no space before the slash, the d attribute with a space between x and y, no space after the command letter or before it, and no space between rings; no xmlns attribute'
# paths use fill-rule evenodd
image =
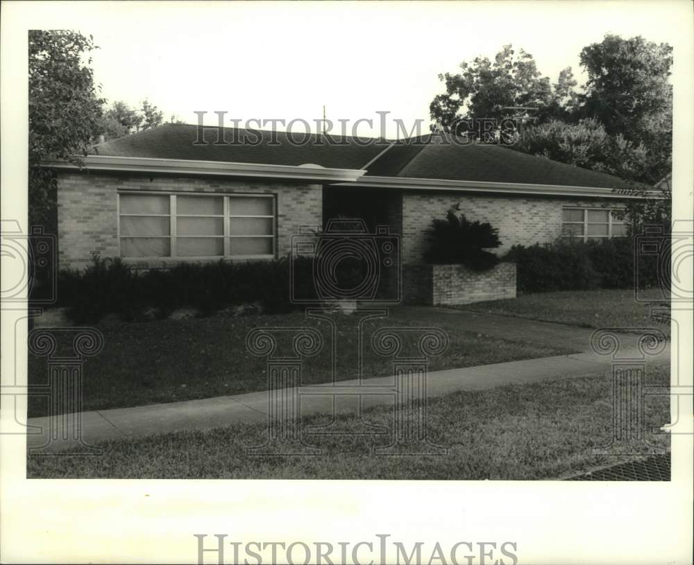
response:
<svg viewBox="0 0 694 565"><path fill-rule="evenodd" d="M471 304L516 297L516 263L498 263L484 272L462 265L403 266L406 304Z"/></svg>

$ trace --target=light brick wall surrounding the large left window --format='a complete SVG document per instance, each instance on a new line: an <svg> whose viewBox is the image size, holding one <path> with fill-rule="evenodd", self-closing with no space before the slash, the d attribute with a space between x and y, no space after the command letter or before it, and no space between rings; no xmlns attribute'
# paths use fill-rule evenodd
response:
<svg viewBox="0 0 694 565"><path fill-rule="evenodd" d="M118 257L119 191L258 193L277 198L278 256L289 254L290 238L302 225L320 227L323 191L319 184L261 180L149 177L58 173L58 257L60 268L83 268L93 253ZM131 261L139 268L171 266L171 261Z"/></svg>

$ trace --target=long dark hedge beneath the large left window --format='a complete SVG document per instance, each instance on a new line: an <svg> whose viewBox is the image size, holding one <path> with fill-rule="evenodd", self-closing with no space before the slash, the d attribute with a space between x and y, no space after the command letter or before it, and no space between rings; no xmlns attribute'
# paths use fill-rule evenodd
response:
<svg viewBox="0 0 694 565"><path fill-rule="evenodd" d="M148 308L165 317L177 308L197 308L203 315L227 306L261 302L267 313L295 306L289 295L289 260L246 263L181 263L144 273L120 259L92 258L82 272L64 270L58 278L58 304L75 322L96 322L107 314L123 320L142 318ZM312 259L294 259L295 294L313 297Z"/></svg>

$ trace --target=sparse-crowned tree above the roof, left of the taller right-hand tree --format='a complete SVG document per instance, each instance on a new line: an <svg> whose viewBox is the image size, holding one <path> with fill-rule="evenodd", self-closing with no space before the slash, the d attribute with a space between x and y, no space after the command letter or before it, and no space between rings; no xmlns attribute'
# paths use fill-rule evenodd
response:
<svg viewBox="0 0 694 565"><path fill-rule="evenodd" d="M472 63L459 65L462 73L439 75L446 92L438 94L430 104L430 115L444 129L460 120L496 119L515 114L509 107L537 107L539 121L563 117L575 99L576 81L570 67L559 74L555 85L541 76L530 53L516 52L505 45L494 62L477 57Z"/></svg>

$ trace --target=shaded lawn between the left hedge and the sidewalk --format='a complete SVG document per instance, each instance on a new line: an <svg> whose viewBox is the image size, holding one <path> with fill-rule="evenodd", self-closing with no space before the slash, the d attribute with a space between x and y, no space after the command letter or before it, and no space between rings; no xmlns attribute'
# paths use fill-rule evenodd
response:
<svg viewBox="0 0 694 565"><path fill-rule="evenodd" d="M337 380L357 378L355 316L336 315ZM101 410L124 406L211 398L267 389L266 360L246 349L246 335L258 327L315 327L325 336L325 347L307 358L303 383L332 380L330 364L330 326L303 314L248 316L243 318L192 318L151 322L103 322L95 327L103 333L101 353L87 358L83 369L83 410ZM366 322L364 376L392 374L391 360L375 354L369 336L378 327L438 327L448 333L450 345L441 356L431 358L430 370L472 367L489 363L574 353L570 349L511 342L475 332L464 331L455 316L437 319L413 318L392 313L390 318ZM70 354L71 342L59 337L58 354ZM280 349L287 342L280 342ZM278 349L277 354L282 354ZM414 352L412 342L405 343L402 354ZM45 358L29 356L28 381L42 385L47 380ZM46 401L29 398L29 415L45 415Z"/></svg>

